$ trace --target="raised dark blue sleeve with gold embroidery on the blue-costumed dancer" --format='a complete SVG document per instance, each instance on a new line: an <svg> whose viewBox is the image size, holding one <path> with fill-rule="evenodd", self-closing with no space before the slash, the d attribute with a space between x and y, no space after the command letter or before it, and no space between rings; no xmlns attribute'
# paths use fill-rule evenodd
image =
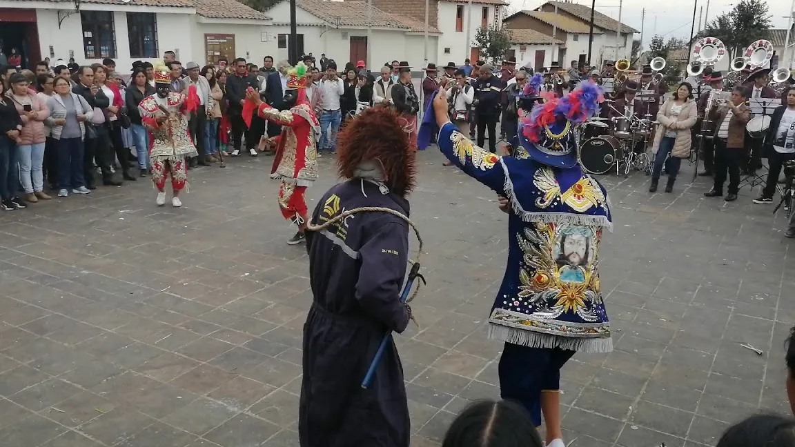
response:
<svg viewBox="0 0 795 447"><path fill-rule="evenodd" d="M452 122L442 126L438 141L442 154L464 173L494 189L495 192L502 192L505 173L500 167L494 169L499 163L497 155L472 144L471 140L460 133Z"/></svg>

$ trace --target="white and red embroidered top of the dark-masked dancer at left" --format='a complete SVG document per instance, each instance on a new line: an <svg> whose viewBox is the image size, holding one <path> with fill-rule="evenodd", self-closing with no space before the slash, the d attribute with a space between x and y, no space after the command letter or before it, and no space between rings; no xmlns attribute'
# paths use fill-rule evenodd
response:
<svg viewBox="0 0 795 447"><path fill-rule="evenodd" d="M196 157L198 153L188 130L188 118L184 115L189 113L191 101L186 95L173 91L165 97L164 103L158 103L157 94L154 94L138 104L142 121L155 128L149 133L149 157L152 161L180 161L184 157ZM157 117L166 115L166 112L168 119L158 124Z"/></svg>

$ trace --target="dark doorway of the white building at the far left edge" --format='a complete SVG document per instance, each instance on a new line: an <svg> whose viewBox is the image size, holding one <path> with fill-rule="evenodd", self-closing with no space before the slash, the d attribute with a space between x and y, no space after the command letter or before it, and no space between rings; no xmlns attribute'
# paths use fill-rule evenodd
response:
<svg viewBox="0 0 795 447"><path fill-rule="evenodd" d="M35 68L34 65L42 59L39 46L35 10L0 8L0 49L3 54L10 56L11 50L16 49L21 55L20 66Z"/></svg>

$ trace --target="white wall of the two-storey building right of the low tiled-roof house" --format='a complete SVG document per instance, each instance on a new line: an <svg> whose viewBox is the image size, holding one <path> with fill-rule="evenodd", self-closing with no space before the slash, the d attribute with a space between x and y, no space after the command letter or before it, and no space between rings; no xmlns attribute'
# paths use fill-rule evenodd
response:
<svg viewBox="0 0 795 447"><path fill-rule="evenodd" d="M456 7L463 6L463 30L456 31ZM471 43L475 40L475 34L481 25L481 14L483 6L489 9L488 25L494 24L494 5L487 5L483 3L472 2L471 11L469 11L469 3L452 3L452 2L439 2L439 25L438 28L442 35L439 37L438 55L441 60L439 63L444 62L447 64L449 61L454 61L456 64L463 65L463 60L469 58L471 51ZM469 41L467 42L467 17L469 18ZM501 20L497 21L502 23ZM450 53L445 54L444 49L449 48ZM431 60L433 61L433 60ZM473 61L474 62L474 61Z"/></svg>

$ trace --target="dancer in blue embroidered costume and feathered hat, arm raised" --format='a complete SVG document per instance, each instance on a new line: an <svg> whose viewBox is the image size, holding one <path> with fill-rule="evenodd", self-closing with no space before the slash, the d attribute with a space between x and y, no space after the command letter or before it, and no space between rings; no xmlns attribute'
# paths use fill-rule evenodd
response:
<svg viewBox="0 0 795 447"><path fill-rule="evenodd" d="M489 336L506 342L502 398L521 402L536 426L543 413L546 445L564 447L560 368L577 351L613 348L599 281L599 245L612 229L611 211L607 191L577 162L573 131L598 110L599 87L584 83L533 107L519 122L522 150L514 157L490 154L460 134L440 93L426 111L440 127L440 150L510 206L508 262L489 316Z"/></svg>

